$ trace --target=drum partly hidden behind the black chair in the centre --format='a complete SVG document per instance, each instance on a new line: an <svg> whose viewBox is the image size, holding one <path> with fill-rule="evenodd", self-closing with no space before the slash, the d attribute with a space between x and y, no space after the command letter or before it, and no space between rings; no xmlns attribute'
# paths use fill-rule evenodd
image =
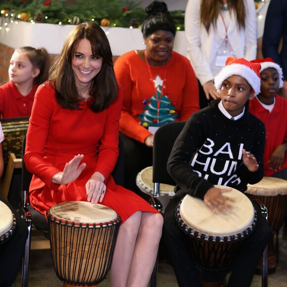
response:
<svg viewBox="0 0 287 287"><path fill-rule="evenodd" d="M152 166L148 166L140 171L137 175L137 186L138 188L143 191L145 194L153 196L153 182L152 182ZM161 184L160 195L169 195L173 196L174 193L174 186Z"/></svg>

